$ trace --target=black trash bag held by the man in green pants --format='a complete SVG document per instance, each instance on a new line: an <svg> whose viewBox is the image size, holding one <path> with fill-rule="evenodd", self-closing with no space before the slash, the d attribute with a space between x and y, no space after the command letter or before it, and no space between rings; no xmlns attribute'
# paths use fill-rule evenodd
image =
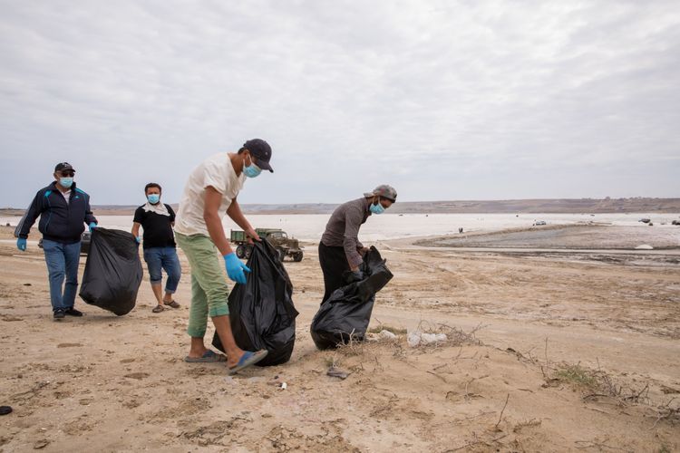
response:
<svg viewBox="0 0 680 453"><path fill-rule="evenodd" d="M286 363L296 342L293 284L277 249L267 239L255 243L247 265L248 282L234 285L228 297L234 340L244 351L268 351L258 366ZM218 333L212 337L212 345L224 352Z"/></svg>

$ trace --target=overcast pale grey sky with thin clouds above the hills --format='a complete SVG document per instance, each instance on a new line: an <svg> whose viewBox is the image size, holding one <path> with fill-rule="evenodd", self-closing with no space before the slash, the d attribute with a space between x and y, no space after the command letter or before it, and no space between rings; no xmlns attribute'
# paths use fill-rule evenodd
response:
<svg viewBox="0 0 680 453"><path fill-rule="evenodd" d="M0 0L0 207L66 160L177 202L251 138L241 203L680 196L680 3Z"/></svg>

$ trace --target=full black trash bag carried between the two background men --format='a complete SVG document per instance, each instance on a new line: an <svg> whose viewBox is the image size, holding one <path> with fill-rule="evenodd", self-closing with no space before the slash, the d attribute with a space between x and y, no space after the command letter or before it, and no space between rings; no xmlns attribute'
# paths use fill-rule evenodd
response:
<svg viewBox="0 0 680 453"><path fill-rule="evenodd" d="M139 244L127 231L92 230L80 296L119 316L130 313L141 284Z"/></svg>

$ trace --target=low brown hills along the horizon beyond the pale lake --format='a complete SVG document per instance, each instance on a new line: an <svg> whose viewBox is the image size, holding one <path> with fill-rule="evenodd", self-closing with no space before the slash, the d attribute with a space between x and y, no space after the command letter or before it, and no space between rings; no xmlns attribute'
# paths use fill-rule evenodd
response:
<svg viewBox="0 0 680 453"><path fill-rule="evenodd" d="M170 205L177 209L177 205ZM246 214L330 214L337 204L296 203L281 205L241 205ZM132 215L136 206L98 205L95 213ZM678 212L680 198L563 198L516 200L405 201L390 208L396 214L604 214L626 212ZM0 209L0 216L21 216L23 209Z"/></svg>

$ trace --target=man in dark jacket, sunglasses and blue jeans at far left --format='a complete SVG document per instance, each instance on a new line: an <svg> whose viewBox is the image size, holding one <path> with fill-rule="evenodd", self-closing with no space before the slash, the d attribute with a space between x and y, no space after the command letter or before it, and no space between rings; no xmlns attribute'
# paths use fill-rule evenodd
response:
<svg viewBox="0 0 680 453"><path fill-rule="evenodd" d="M53 183L35 194L22 221L19 238L16 240L17 248L24 251L31 226L40 216L38 229L43 233L44 260L47 263L50 280L50 299L54 319L57 321L61 321L66 314L83 316L83 313L73 308L78 289L81 235L85 230L83 224L88 224L90 231L97 226L97 219L92 216L90 209L90 196L75 187L73 176L75 170L68 162L59 163L54 167Z"/></svg>

